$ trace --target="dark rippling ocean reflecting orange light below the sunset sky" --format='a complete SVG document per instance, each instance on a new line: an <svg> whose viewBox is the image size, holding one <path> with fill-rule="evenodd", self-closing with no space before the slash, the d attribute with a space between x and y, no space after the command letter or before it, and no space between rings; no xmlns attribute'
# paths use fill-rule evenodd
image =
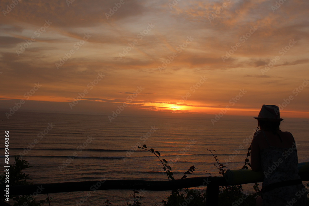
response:
<svg viewBox="0 0 309 206"><path fill-rule="evenodd" d="M158 158L139 145L147 145L161 153L171 165L175 179L180 179L190 166L194 174L206 177L207 172L220 176L207 150L215 150L227 169L243 166L251 135L257 121L252 117L223 116L214 125L209 118L108 116L51 114L18 111L9 120L2 119L1 132L10 133L10 164L13 156L26 159L32 168L24 170L34 184L116 179L167 180ZM282 131L294 135L298 146L298 162L307 162L309 147L308 119L286 119ZM1 166L4 165L4 141L0 145ZM244 149L239 149L244 148ZM1 152L2 151L2 152ZM3 168L3 167L2 167ZM207 171L207 172L206 172ZM253 184L243 190L253 192ZM202 191L203 188L200 188ZM205 188L204 188L205 189ZM51 205L103 205L106 199L115 205L132 203L133 190L106 190L52 193ZM170 191L146 191L142 205L167 200ZM43 200L45 194L37 196Z"/></svg>

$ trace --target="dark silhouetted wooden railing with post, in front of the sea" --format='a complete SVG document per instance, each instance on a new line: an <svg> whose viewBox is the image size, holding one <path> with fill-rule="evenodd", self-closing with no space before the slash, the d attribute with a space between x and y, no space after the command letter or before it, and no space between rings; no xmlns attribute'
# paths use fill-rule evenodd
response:
<svg viewBox="0 0 309 206"><path fill-rule="evenodd" d="M252 170L242 170L241 176L244 178L233 177L233 172L237 176L239 170L229 170L232 173L229 178L224 177L193 177L186 179L176 179L171 181L146 181L146 180L99 180L86 182L66 182L10 186L10 195L32 195L40 188L40 194L75 192L95 190L152 190L152 191L171 191L190 187L206 188L206 205L218 205L219 186L238 185L247 183L261 182L263 176L259 172ZM228 173L229 173L228 172ZM247 175L248 174L248 175ZM247 175L247 177L245 177ZM303 181L309 181L309 172L299 173ZM251 178L250 178L251 177ZM238 179L238 180L237 180ZM4 187L0 187L1 190ZM3 190L2 190L3 191Z"/></svg>

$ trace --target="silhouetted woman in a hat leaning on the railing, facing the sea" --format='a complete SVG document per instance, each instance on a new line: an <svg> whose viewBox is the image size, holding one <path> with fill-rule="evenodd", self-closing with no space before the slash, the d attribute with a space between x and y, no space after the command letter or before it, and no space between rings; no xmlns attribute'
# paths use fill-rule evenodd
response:
<svg viewBox="0 0 309 206"><path fill-rule="evenodd" d="M298 175L297 149L290 132L279 129L279 107L263 105L258 117L260 130L251 145L251 168L262 171L264 180L256 205L303 206L306 188Z"/></svg>

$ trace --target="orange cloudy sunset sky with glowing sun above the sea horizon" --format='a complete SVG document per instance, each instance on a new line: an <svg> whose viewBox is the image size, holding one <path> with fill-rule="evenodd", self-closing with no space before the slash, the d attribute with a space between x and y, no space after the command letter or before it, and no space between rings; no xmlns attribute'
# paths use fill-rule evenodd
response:
<svg viewBox="0 0 309 206"><path fill-rule="evenodd" d="M309 118L308 1L2 0L0 7L3 119L21 100L20 110L107 116L124 103L123 114L211 116L225 107L226 115L256 116L275 104L281 116Z"/></svg>

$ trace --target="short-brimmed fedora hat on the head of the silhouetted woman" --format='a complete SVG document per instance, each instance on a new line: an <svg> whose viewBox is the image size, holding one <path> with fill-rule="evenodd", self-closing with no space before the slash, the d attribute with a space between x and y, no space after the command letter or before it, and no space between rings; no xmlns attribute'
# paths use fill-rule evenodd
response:
<svg viewBox="0 0 309 206"><path fill-rule="evenodd" d="M281 122L279 107L276 105L263 104L258 117L253 117L257 120L264 120L270 122Z"/></svg>

